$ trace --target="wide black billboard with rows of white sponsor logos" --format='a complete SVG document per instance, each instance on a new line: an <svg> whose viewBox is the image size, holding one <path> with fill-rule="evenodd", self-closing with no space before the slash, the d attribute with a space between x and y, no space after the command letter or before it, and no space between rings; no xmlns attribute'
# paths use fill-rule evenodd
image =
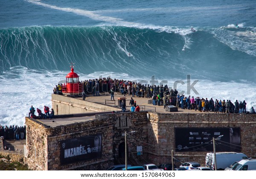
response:
<svg viewBox="0 0 256 179"><path fill-rule="evenodd" d="M223 135L223 136L222 136ZM216 152L241 152L240 128L175 128L176 152L213 151L213 138Z"/></svg>

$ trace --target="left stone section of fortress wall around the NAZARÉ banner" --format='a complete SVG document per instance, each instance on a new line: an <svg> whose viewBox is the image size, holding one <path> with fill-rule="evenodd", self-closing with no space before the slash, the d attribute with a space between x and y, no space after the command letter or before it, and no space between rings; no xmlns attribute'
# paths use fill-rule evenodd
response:
<svg viewBox="0 0 256 179"><path fill-rule="evenodd" d="M53 128L44 126L34 119L26 118L26 125L27 152L25 158L32 170L103 170L113 165L113 125L111 121L95 119ZM102 134L100 159L61 165L61 141L99 133Z"/></svg>

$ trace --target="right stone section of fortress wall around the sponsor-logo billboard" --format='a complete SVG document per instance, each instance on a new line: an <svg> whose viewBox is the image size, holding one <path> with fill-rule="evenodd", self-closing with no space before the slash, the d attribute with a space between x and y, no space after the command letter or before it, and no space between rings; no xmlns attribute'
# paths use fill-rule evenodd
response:
<svg viewBox="0 0 256 179"><path fill-rule="evenodd" d="M175 128L187 127L240 127L241 152L248 157L256 157L256 115L244 114L160 114L149 113L148 139L151 144L160 145L161 150L154 148L148 157L154 163L171 162L171 150L175 148ZM213 148L212 148L213 151ZM176 159L181 162L196 161L205 165L207 152L174 152Z"/></svg>

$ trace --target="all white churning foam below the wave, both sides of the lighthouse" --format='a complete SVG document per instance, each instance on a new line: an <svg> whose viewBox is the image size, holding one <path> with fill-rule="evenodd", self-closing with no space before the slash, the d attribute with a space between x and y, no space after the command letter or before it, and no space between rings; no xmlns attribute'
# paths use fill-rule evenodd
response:
<svg viewBox="0 0 256 179"><path fill-rule="evenodd" d="M58 84L59 81L65 80L65 76L68 71L46 71L46 70L31 70L22 66L15 66L9 71L4 72L0 76L0 95L2 97L2 103L0 103L0 124L2 125L24 125L25 116L28 116L29 108L33 107L43 110L44 105L52 107L51 94L53 87ZM141 78L139 76L131 76L126 73L114 73L114 72L94 72L92 74L84 75L79 74L80 81L99 78L111 77L124 80L140 81L151 80L151 77ZM173 87L176 80L183 79L157 79L158 81L167 80L168 86ZM195 79L191 79L191 84ZM184 85L178 84L178 91L185 91L185 95L191 95L194 97L200 96L201 98L213 98L216 99L230 99L232 102L235 100L247 102L247 110L251 106L256 107L256 84L249 83L247 81L231 81L231 82L218 82L199 80L195 84L195 90L199 93L196 95L191 90L190 94L187 91L187 82ZM246 90L245 90L246 89ZM37 114L37 113L36 113Z"/></svg>

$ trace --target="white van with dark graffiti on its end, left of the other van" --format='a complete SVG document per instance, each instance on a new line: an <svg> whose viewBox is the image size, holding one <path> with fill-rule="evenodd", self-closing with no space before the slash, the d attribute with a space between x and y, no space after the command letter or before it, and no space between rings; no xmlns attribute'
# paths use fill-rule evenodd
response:
<svg viewBox="0 0 256 179"><path fill-rule="evenodd" d="M217 170L224 170L233 162L240 161L242 159L248 159L248 157L244 153L217 152L216 153ZM214 153L206 154L205 165L206 167L209 167L211 170L215 170Z"/></svg>

